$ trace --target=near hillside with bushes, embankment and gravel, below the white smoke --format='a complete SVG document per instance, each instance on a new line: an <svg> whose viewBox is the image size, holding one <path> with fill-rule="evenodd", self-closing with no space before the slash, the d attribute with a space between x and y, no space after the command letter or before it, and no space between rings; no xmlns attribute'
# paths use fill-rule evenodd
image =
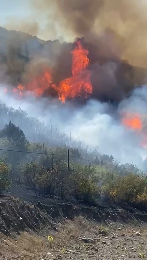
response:
<svg viewBox="0 0 147 260"><path fill-rule="evenodd" d="M65 145L29 143L11 122L0 142L10 149L0 161L0 259L146 258L147 182L136 166L100 154L101 162L96 157L90 165L78 159L84 151L70 148L68 169L66 159L46 154L65 155Z"/></svg>

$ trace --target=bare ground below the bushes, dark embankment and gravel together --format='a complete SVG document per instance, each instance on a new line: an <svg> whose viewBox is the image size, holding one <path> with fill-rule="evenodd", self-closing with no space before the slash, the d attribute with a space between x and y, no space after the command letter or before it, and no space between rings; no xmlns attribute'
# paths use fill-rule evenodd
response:
<svg viewBox="0 0 147 260"><path fill-rule="evenodd" d="M14 185L0 198L0 259L147 259L146 222L131 207L38 198Z"/></svg>

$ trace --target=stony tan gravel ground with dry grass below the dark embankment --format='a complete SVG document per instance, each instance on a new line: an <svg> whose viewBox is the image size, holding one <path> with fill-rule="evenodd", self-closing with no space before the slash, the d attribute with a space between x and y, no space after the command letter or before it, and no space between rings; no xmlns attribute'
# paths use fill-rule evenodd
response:
<svg viewBox="0 0 147 260"><path fill-rule="evenodd" d="M53 238L51 245L47 234ZM2 235L0 259L147 259L146 241L144 223L99 225L79 217L59 223L56 232L22 232L15 239Z"/></svg>

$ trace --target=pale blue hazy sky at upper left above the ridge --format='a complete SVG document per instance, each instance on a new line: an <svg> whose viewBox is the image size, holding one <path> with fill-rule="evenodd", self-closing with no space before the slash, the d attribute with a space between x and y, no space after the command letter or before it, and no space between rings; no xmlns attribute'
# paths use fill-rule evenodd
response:
<svg viewBox="0 0 147 260"><path fill-rule="evenodd" d="M55 32L53 35L53 30L50 30L49 26L47 30L44 13L35 13L31 1L0 0L0 26L8 30L27 32L43 40L55 40L57 38L62 40L58 25L51 21L51 27L54 27Z"/></svg>

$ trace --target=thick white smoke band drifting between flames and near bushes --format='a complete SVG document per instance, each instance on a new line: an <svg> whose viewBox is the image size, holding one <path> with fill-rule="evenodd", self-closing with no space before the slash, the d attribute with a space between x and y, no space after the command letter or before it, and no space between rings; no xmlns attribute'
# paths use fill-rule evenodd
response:
<svg viewBox="0 0 147 260"><path fill-rule="evenodd" d="M1 92L0 99L7 106L15 109L21 107L28 116L38 118L46 126L50 126L52 120L60 132L70 135L72 140L78 138L89 145L89 149L98 147L100 153L113 155L120 163L133 162L142 168L143 159L147 156L147 150L140 146L143 134L126 128L121 122L120 113L135 112L141 117L146 114L146 86L134 90L118 107L94 100L78 108L71 103L62 105L58 101L51 102L46 98L36 100L28 97L25 100L16 100L4 92ZM27 136L27 125L23 126L22 130Z"/></svg>

